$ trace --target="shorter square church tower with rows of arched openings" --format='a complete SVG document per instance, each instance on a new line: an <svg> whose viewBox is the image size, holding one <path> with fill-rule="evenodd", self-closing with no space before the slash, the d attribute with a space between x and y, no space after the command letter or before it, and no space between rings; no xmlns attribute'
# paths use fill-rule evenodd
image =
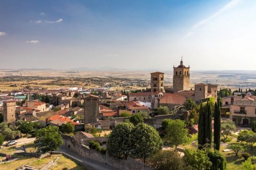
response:
<svg viewBox="0 0 256 170"><path fill-rule="evenodd" d="M164 73L163 72L152 72L151 73L151 91L164 91Z"/></svg>

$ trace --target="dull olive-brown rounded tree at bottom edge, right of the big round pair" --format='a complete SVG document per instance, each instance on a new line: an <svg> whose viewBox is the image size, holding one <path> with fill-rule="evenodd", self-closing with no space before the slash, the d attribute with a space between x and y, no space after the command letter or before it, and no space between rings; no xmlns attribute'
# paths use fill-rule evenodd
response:
<svg viewBox="0 0 256 170"><path fill-rule="evenodd" d="M183 170L184 162L178 152L165 150L159 151L147 159L147 164L156 170Z"/></svg>

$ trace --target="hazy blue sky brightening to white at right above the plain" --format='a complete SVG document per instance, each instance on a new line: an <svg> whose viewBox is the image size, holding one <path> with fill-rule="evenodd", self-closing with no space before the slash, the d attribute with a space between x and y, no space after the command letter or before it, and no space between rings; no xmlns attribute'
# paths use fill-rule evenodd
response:
<svg viewBox="0 0 256 170"><path fill-rule="evenodd" d="M0 69L256 70L255 0L0 1Z"/></svg>

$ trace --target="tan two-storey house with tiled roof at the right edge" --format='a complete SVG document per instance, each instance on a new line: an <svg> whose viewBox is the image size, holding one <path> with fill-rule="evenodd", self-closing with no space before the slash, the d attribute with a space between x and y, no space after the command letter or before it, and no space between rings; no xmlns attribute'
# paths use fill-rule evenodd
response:
<svg viewBox="0 0 256 170"><path fill-rule="evenodd" d="M256 101L240 100L230 105L230 119L240 125L249 125L256 120Z"/></svg>

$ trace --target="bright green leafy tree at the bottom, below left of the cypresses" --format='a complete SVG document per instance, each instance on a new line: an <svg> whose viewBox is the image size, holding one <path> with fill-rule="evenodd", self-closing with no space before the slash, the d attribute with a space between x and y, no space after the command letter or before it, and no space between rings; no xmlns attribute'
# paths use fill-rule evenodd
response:
<svg viewBox="0 0 256 170"><path fill-rule="evenodd" d="M191 169L206 170L211 169L212 163L207 156L207 153L203 150L185 150L183 160L187 166Z"/></svg>

